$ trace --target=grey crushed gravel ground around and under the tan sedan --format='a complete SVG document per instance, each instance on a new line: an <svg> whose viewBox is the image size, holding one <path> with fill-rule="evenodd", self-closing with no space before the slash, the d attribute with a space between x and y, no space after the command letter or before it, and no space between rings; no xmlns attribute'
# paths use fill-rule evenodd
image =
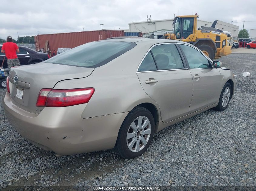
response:
<svg viewBox="0 0 256 191"><path fill-rule="evenodd" d="M0 107L0 189L14 186L256 186L256 55L220 59L235 75L224 112L205 111L154 135L141 157L113 151L55 158L9 125ZM242 72L250 72L243 77ZM0 89L0 101L5 93ZM85 186L85 187L82 187Z"/></svg>

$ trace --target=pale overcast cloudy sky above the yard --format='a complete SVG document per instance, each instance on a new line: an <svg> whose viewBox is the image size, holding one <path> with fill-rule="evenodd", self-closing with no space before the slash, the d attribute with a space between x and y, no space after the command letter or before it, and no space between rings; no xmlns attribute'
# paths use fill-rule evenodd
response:
<svg viewBox="0 0 256 191"><path fill-rule="evenodd" d="M243 3L241 3L243 2ZM1 0L0 37L128 29L129 22L198 13L199 19L221 20L256 29L255 0Z"/></svg>

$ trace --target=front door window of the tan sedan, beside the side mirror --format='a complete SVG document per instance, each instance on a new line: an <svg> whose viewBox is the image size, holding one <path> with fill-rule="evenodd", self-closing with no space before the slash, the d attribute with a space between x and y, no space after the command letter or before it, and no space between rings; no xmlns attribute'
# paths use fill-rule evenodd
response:
<svg viewBox="0 0 256 191"><path fill-rule="evenodd" d="M208 59L197 49L183 44L179 46L188 60L189 68L211 68Z"/></svg>

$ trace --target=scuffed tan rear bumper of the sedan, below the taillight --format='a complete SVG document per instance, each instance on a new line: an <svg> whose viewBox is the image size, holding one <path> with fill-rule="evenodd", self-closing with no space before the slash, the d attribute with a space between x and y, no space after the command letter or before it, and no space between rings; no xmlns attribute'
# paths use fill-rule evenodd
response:
<svg viewBox="0 0 256 191"><path fill-rule="evenodd" d="M5 115L15 130L32 144L60 155L111 149L115 146L126 113L83 119L86 104L45 107L41 113L27 112L10 99L3 100Z"/></svg>

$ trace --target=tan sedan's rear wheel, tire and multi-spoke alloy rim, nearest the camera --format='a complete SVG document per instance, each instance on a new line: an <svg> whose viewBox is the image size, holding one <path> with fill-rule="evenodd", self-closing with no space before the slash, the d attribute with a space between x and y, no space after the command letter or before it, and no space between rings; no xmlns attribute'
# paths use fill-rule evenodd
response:
<svg viewBox="0 0 256 191"><path fill-rule="evenodd" d="M122 158L138 157L147 150L154 132L151 112L144 107L135 107L121 125L114 150Z"/></svg>

